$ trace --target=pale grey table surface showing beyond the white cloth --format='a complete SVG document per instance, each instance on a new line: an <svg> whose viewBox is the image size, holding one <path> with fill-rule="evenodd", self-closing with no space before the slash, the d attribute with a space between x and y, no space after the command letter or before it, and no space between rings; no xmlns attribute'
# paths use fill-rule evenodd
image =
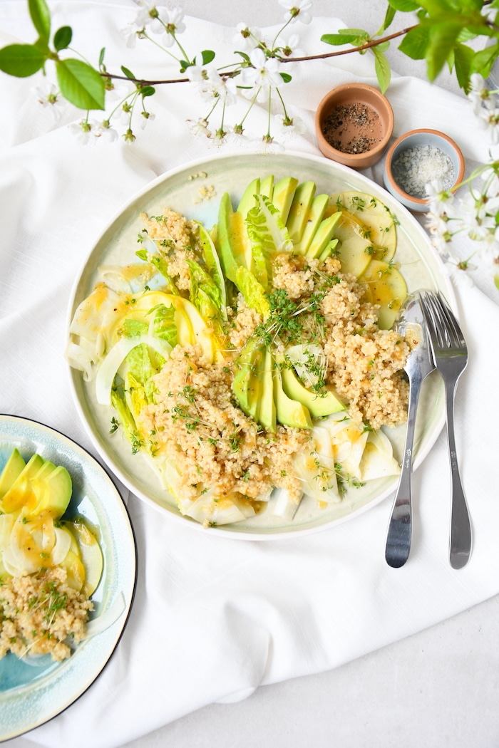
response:
<svg viewBox="0 0 499 748"><path fill-rule="evenodd" d="M284 13L271 0L183 0L181 4L189 15L230 26L239 21L257 26L280 23ZM385 0L314 0L313 13L375 31L385 6ZM394 31L412 19L411 14L399 15ZM393 70L424 77L424 64L404 58L396 48L397 41L388 52ZM459 91L448 73L439 77L438 85ZM242 702L210 705L126 745L495 748L499 746L498 636L499 598L495 597L331 672L260 687ZM11 748L34 745L29 735L9 742Z"/></svg>

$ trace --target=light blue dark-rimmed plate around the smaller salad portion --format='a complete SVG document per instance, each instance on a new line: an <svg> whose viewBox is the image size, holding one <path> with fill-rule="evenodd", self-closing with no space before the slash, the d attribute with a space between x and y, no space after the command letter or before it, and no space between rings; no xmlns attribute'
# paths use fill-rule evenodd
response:
<svg viewBox="0 0 499 748"><path fill-rule="evenodd" d="M31 420L0 416L0 470L17 447L27 459L34 453L64 465L73 480L67 516L83 515L100 534L102 579L92 600L91 619L107 628L82 641L61 663L50 655L19 660L10 652L0 660L0 741L60 714L102 671L120 640L135 592L135 539L120 494L101 465L58 432ZM100 616L105 616L100 619ZM105 624L105 625L106 625Z"/></svg>

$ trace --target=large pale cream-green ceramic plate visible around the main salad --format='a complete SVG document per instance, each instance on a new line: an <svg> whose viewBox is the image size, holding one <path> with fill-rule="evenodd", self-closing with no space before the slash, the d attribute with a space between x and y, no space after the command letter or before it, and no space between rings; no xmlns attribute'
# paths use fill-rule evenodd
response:
<svg viewBox="0 0 499 748"><path fill-rule="evenodd" d="M335 162L312 156L282 154L276 156L245 154L221 156L187 165L185 168L166 174L155 180L136 195L112 218L91 251L82 273L76 282L70 303L70 319L77 305L87 296L97 281L97 269L102 264L128 264L135 261L137 236L144 227L140 213L158 215L165 207L212 227L217 221L218 203L221 195L228 191L237 204L244 188L255 177L274 174L275 178L297 177L300 182L313 180L317 193L332 194L346 189L357 189L373 194L383 200L397 216L397 254L402 274L409 291L418 288L441 289L447 298L452 298L447 276L441 262L427 239L423 229L411 214L385 189L376 186L361 174ZM430 375L429 379L432 378ZM141 455L132 456L129 444L120 432L109 436L111 409L98 406L94 397L94 385L83 381L82 374L71 371L73 394L79 414L102 459L120 477L130 490L165 515L177 518L193 527L197 523L180 515L174 500L162 490L153 472L147 468ZM421 401L417 433L417 466L428 453L443 424L441 388L435 379L425 384ZM421 426L422 425L422 426ZM400 458L405 427L388 429ZM369 482L362 488L350 489L341 503L320 509L313 500L304 499L292 522L283 521L269 511L262 512L242 523L209 528L206 532L248 539L270 539L296 533L309 533L328 527L363 511L368 506L387 497L397 480L384 479Z"/></svg>

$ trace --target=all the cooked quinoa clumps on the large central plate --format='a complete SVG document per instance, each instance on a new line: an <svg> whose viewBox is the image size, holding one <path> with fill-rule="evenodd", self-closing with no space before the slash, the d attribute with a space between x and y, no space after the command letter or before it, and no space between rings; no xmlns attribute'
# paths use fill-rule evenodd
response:
<svg viewBox="0 0 499 748"><path fill-rule="evenodd" d="M189 291L187 260L195 224L171 210L144 220L149 236L165 247L162 254L177 288ZM406 418L402 367L408 343L397 332L378 328L379 307L367 301L353 275L342 274L339 260L276 254L268 295L269 319L236 295L219 340L224 352L219 361L207 361L197 346L176 346L153 378L155 402L141 411L141 426L158 455L174 457L180 480L172 488L180 503L205 492L261 500L274 486L286 488L299 502L293 456L310 432L279 425L275 433L267 432L238 407L233 394L236 357L250 337L268 338L279 355L296 343L320 346L322 386L334 388L358 423L379 429Z"/></svg>

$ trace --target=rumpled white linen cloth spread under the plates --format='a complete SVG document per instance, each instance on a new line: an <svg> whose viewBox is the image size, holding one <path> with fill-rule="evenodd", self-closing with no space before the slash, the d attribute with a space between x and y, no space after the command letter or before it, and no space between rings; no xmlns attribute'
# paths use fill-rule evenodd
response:
<svg viewBox="0 0 499 748"><path fill-rule="evenodd" d="M105 44L108 70L126 64L144 78L165 76L162 55L152 47L147 64L144 47L124 47L117 29L132 18L131 4L68 1L51 7L54 28L73 25L74 46L88 58L94 60ZM314 19L300 29L301 47L316 52L320 35L341 26ZM0 46L33 38L24 4L2 2ZM187 49L227 51L232 39L233 30L198 19L187 19L182 37ZM293 79L287 102L306 129L285 144L314 154L313 112L322 96L354 79L376 85L368 55L303 64ZM31 79L0 73L0 411L46 423L95 455L76 417L64 361L73 281L102 228L132 194L168 169L217 151L186 126L188 118L204 113L190 89L186 95L186 84L159 91L150 103L156 120L134 144L121 139L88 146L67 128L79 113L68 111L51 124L33 87ZM395 80L388 97L394 135L414 127L442 129L459 142L468 170L486 160L485 138L461 97L408 78ZM266 111L256 119L251 129L261 134ZM380 182L381 167L367 174ZM94 685L31 732L31 741L119 746L203 705L243 699L260 684L334 668L499 592L499 307L474 287L459 286L456 294L470 350L456 423L474 534L468 565L453 571L447 558L444 433L414 474L413 547L401 569L389 568L384 558L391 499L320 533L255 542L193 531L123 491L138 545L129 624Z"/></svg>

